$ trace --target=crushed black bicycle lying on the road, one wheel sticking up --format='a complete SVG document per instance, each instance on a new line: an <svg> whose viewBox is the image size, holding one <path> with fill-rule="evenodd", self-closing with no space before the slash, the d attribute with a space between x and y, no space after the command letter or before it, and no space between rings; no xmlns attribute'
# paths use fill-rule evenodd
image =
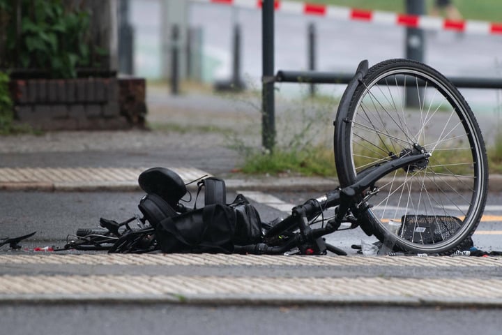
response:
<svg viewBox="0 0 502 335"><path fill-rule="evenodd" d="M487 198L487 157L471 108L446 77L407 59L362 61L334 126L340 187L287 218L262 222L242 195L227 203L225 182L213 177L199 181L204 207L185 207L181 178L152 168L139 176L142 216L101 219L66 248L344 255L324 237L355 228L404 253L448 255L469 242Z"/></svg>

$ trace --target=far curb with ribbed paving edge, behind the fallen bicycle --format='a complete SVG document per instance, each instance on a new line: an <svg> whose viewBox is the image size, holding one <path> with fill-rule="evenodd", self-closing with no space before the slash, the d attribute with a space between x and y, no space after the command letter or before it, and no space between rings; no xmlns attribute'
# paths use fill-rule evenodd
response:
<svg viewBox="0 0 502 335"><path fill-rule="evenodd" d="M179 174L190 190L197 189L192 182L211 174L192 167L169 169ZM3 191L141 191L137 178L146 168L0 168L0 190ZM402 179L382 178L381 183L391 183ZM441 181L425 181L427 188L435 188L438 183L446 187L459 185L455 178ZM225 179L229 191L302 191L324 193L339 186L337 178L326 177L275 177L232 175ZM489 176L489 191L502 191L502 174ZM462 191L457 188L457 191Z"/></svg>

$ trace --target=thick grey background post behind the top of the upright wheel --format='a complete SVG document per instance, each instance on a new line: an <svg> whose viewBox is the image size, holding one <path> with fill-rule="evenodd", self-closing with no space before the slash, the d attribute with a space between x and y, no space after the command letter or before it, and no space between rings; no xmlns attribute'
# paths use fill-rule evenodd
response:
<svg viewBox="0 0 502 335"><path fill-rule="evenodd" d="M424 15L425 1L405 0L406 13L410 15ZM424 60L424 34L422 29L406 28L406 58L416 61ZM411 94L411 89L406 89L406 106L418 107L420 104L418 94ZM420 94L421 95L421 94Z"/></svg>

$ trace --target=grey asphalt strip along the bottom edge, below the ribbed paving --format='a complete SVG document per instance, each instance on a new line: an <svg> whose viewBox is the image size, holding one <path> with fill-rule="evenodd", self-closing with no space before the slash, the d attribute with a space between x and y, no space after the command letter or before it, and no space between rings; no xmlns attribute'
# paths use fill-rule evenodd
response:
<svg viewBox="0 0 502 335"><path fill-rule="evenodd" d="M57 322L54 322L57 320ZM0 306L4 334L498 335L499 310L372 306Z"/></svg>

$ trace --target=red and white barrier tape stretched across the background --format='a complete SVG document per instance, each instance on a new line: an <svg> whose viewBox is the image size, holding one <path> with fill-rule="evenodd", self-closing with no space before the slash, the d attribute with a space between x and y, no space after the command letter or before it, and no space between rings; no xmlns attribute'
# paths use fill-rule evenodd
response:
<svg viewBox="0 0 502 335"><path fill-rule="evenodd" d="M199 3L219 3L242 8L261 8L261 0L192 0ZM328 6L319 3L302 3L275 0L275 10L281 13L317 15L338 20L374 22L401 27L432 30L460 31L472 34L502 35L502 23L474 20L445 20L425 15L407 15L379 10L360 10L355 8Z"/></svg>

